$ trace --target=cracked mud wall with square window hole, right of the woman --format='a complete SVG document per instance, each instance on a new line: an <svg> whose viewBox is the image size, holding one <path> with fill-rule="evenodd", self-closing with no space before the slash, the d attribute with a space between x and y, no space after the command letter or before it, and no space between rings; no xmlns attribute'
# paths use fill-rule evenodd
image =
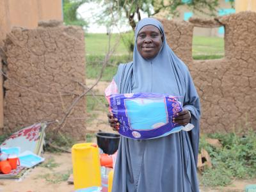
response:
<svg viewBox="0 0 256 192"><path fill-rule="evenodd" d="M202 107L201 131L256 129L256 13L163 20L167 42L189 67ZM225 57L193 60L193 28L225 27ZM253 127L254 126L254 127Z"/></svg>

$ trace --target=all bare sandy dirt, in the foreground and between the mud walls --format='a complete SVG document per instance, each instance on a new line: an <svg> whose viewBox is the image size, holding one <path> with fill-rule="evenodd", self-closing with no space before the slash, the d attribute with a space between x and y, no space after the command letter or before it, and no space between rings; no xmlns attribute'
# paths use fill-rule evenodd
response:
<svg viewBox="0 0 256 192"><path fill-rule="evenodd" d="M87 84L90 86L92 80L88 80ZM100 82L94 90L95 93L102 94L102 90L108 86L107 82ZM95 111L97 117L90 121L87 125L87 129L90 131L102 131L113 132L108 125L108 118L104 111ZM95 141L95 138L94 138ZM0 180L0 192L72 192L74 191L74 185L68 184L67 179L70 173L72 173L72 159L71 154L60 153L52 154L45 152L44 163L31 169L24 177L19 180ZM234 180L230 186L225 188L204 188L200 186L201 192L240 192L244 191L245 186L248 184L256 184L256 179L253 180ZM121 192L121 191L120 191Z"/></svg>

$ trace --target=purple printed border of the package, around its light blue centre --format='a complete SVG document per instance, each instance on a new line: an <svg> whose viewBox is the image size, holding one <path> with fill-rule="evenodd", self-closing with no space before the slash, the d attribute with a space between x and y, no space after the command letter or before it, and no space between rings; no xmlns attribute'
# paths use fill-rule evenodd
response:
<svg viewBox="0 0 256 192"><path fill-rule="evenodd" d="M165 105L168 113L168 123L152 130L133 130L129 126L129 118L126 113L125 99L140 99L140 98L164 98ZM113 113L114 118L118 118L120 122L119 133L127 138L132 138L135 140L145 140L151 138L158 138L166 132L172 131L173 128L179 127L179 124L172 123L173 112L177 113L182 111L182 106L180 102L175 99L175 97L170 95L163 95L159 93L125 93L125 94L115 94L109 97L109 107L111 113ZM175 111L173 111L175 108Z"/></svg>

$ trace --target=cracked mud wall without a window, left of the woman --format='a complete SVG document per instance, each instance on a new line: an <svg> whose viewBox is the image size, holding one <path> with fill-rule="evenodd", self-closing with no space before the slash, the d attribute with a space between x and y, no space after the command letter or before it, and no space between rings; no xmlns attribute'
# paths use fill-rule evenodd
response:
<svg viewBox="0 0 256 192"><path fill-rule="evenodd" d="M4 126L12 131L35 122L61 121L84 92L84 33L61 22L36 29L13 28L5 40L8 79L4 81ZM86 100L79 100L61 131L85 134ZM48 131L58 127L50 124Z"/></svg>

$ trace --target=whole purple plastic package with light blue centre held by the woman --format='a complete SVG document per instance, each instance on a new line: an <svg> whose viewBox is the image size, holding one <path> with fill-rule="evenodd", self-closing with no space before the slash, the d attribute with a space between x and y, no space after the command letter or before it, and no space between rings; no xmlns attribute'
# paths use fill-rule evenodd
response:
<svg viewBox="0 0 256 192"><path fill-rule="evenodd" d="M159 93L125 93L108 97L110 112L120 122L119 133L146 140L179 132L183 126L172 122L182 111L175 97Z"/></svg>

